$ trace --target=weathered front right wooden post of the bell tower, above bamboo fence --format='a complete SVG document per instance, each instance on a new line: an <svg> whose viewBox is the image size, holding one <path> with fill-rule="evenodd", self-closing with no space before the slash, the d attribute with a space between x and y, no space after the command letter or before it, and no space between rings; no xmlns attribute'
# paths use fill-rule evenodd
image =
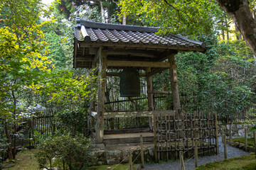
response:
<svg viewBox="0 0 256 170"><path fill-rule="evenodd" d="M178 96L178 77L177 77L177 66L175 64L174 54L169 55L169 63L170 63L170 69L169 74L171 78L171 92L173 96L174 101L174 111L178 111L181 109L181 103Z"/></svg>

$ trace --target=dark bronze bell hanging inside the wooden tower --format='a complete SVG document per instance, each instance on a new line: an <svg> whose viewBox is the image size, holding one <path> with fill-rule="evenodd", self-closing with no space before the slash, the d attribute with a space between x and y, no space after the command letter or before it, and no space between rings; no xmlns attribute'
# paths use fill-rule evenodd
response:
<svg viewBox="0 0 256 170"><path fill-rule="evenodd" d="M139 72L137 69L125 68L120 74L120 96L140 96Z"/></svg>

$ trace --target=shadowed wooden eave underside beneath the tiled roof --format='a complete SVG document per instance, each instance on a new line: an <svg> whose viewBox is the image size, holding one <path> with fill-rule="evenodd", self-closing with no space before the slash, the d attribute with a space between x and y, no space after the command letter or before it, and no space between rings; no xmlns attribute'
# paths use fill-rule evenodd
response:
<svg viewBox="0 0 256 170"><path fill-rule="evenodd" d="M109 61L107 62L107 69L134 67L145 70L152 67L153 70L159 70L160 72L167 69L167 67L159 62L165 62L169 55L176 55L178 51L203 52L200 48L191 47L75 42L74 68L92 69L92 67L95 67L97 63L96 55L100 47L107 52L107 61Z"/></svg>

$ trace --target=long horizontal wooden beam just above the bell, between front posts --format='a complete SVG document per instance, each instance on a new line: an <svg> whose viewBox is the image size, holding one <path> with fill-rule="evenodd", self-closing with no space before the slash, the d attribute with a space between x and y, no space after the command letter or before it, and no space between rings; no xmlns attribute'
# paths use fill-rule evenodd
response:
<svg viewBox="0 0 256 170"><path fill-rule="evenodd" d="M134 62L134 61L117 61L108 60L108 67L158 67L158 68L170 68L168 62Z"/></svg>

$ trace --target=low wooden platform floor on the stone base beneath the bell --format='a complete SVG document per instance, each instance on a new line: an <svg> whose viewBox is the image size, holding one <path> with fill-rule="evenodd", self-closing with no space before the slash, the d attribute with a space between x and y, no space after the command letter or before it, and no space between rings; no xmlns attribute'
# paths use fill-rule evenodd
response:
<svg viewBox="0 0 256 170"><path fill-rule="evenodd" d="M103 141L105 145L139 143L140 135L143 135L144 142L154 142L154 133L145 131L146 130L142 132L132 132L132 130L128 130L127 132L122 131L122 133L117 131L116 134L110 134L110 132L107 132L107 134L103 136Z"/></svg>

